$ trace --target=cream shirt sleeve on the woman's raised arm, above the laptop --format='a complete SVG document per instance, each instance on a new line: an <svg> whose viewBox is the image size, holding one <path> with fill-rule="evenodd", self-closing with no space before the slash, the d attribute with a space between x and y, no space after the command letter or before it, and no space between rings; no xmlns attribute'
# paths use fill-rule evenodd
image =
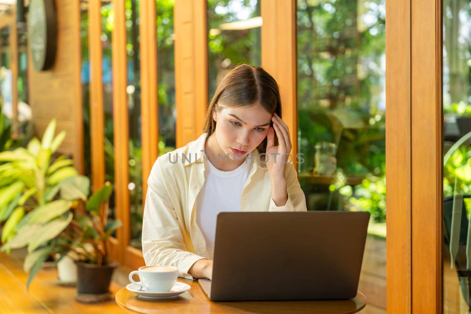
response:
<svg viewBox="0 0 471 314"><path fill-rule="evenodd" d="M298 174L292 162L286 165L286 186L288 201L283 206L276 206L275 201L270 198L268 211L307 211L306 196L301 190Z"/></svg>

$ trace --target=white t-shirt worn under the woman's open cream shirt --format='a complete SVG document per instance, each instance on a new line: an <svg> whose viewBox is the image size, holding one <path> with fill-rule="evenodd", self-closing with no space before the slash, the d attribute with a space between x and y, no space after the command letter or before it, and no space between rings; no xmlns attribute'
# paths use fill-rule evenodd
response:
<svg viewBox="0 0 471 314"><path fill-rule="evenodd" d="M220 212L241 211L240 197L252 168L252 160L231 171L221 171L204 159L207 176L196 198L196 224L206 241L209 258L213 259L216 220Z"/></svg>

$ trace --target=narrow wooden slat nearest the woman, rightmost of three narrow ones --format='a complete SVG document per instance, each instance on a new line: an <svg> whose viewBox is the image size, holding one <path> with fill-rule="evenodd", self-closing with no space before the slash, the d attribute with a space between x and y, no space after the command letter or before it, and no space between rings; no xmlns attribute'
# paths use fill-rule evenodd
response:
<svg viewBox="0 0 471 314"><path fill-rule="evenodd" d="M155 1L140 2L141 127L142 127L142 208L147 178L158 156L159 99L157 97L157 41Z"/></svg>

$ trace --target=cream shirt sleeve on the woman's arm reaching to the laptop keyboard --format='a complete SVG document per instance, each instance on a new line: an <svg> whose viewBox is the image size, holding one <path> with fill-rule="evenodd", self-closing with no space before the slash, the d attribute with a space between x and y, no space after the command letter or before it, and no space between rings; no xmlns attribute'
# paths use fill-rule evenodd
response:
<svg viewBox="0 0 471 314"><path fill-rule="evenodd" d="M147 180L148 188L142 225L142 253L146 265L174 266L179 276L193 279L188 270L199 259L186 250L177 214L171 202L159 160Z"/></svg>

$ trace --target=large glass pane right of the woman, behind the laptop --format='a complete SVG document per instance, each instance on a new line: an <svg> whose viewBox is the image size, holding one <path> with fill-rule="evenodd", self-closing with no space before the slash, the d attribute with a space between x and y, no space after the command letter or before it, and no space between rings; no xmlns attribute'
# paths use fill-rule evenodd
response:
<svg viewBox="0 0 471 314"><path fill-rule="evenodd" d="M298 0L298 153L309 210L365 210L358 290L386 308L385 0Z"/></svg>

